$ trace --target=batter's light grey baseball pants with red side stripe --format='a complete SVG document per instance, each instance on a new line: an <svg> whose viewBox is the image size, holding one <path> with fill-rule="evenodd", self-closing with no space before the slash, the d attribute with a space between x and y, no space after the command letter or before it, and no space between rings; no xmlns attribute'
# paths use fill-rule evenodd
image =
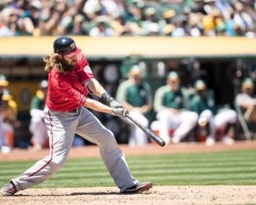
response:
<svg viewBox="0 0 256 205"><path fill-rule="evenodd" d="M99 145L101 157L121 192L138 182L132 177L113 133L85 107L82 107L78 113L55 112L45 107L45 124L50 141L49 156L45 156L43 160L39 160L18 178L12 180L16 191L44 182L63 167L75 132Z"/></svg>

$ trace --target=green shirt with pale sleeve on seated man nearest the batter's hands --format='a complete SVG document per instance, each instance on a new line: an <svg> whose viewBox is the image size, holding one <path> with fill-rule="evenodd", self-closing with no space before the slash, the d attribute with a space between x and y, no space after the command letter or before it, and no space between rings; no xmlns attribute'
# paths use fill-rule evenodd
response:
<svg viewBox="0 0 256 205"><path fill-rule="evenodd" d="M134 85L130 81L124 81L117 89L117 100L126 101L132 106L145 106L152 101L150 85L142 82Z"/></svg>

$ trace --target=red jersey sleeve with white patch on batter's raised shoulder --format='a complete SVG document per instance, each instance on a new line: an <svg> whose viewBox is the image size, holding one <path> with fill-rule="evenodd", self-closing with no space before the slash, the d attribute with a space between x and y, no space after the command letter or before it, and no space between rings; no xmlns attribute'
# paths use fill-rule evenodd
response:
<svg viewBox="0 0 256 205"><path fill-rule="evenodd" d="M87 59L85 58L85 55L80 54L78 55L78 77L81 79L82 83L85 83L89 79L93 78L91 67L89 66L89 63Z"/></svg>

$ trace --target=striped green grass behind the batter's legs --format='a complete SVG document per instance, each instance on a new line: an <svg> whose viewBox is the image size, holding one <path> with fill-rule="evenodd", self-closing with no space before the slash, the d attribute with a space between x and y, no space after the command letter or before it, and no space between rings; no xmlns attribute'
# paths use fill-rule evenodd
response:
<svg viewBox="0 0 256 205"><path fill-rule="evenodd" d="M154 185L256 185L256 150L126 157L132 174ZM34 160L0 162L0 186ZM70 159L37 187L114 186L99 158Z"/></svg>

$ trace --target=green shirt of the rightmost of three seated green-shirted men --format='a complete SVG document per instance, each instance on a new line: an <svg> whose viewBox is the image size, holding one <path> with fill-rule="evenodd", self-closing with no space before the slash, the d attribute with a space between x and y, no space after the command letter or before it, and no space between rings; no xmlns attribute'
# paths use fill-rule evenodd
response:
<svg viewBox="0 0 256 205"><path fill-rule="evenodd" d="M200 95L193 96L193 99L191 99L189 103L189 109L198 114L202 113L204 110L211 110L213 114L217 113L215 100L211 94L207 94L204 97Z"/></svg>

